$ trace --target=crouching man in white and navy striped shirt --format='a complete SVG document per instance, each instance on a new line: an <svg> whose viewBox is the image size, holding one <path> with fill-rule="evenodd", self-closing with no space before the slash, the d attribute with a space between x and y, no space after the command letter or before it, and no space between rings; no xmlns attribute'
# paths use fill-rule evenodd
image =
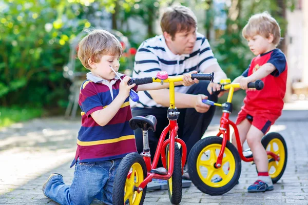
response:
<svg viewBox="0 0 308 205"><path fill-rule="evenodd" d="M197 33L197 17L187 7L167 8L161 19L163 34L145 40L139 47L134 63L133 77L156 76L164 70L169 76L182 75L192 71L211 73L215 71L215 82L226 78L214 58L207 39ZM180 111L178 118L178 136L187 146L187 156L192 146L201 139L209 122L213 118L215 107L202 103L202 99L217 101L213 91L220 85L200 80L190 87L175 88L176 107ZM156 132L148 132L149 147L153 158L162 130L168 125L166 113L169 107L169 90L151 90L139 92L139 101L132 105L133 116L154 115L157 120ZM135 131L137 150L142 152L142 130ZM159 163L158 167L162 167Z"/></svg>

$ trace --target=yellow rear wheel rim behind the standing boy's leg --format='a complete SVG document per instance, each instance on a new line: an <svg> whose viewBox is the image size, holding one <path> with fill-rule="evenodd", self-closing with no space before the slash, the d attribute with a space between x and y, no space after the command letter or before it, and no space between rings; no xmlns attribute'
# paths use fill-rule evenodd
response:
<svg viewBox="0 0 308 205"><path fill-rule="evenodd" d="M266 151L271 151L280 157L279 161L271 161L268 163L269 176L276 178L281 173L285 160L285 150L282 141L278 138L272 139L266 146ZM268 159L272 158L270 155L267 155L267 157Z"/></svg>

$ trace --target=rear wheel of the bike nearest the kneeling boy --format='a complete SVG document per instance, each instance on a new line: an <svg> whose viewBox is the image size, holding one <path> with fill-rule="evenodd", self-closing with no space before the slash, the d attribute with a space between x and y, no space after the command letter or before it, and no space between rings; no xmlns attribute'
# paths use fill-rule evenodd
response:
<svg viewBox="0 0 308 205"><path fill-rule="evenodd" d="M130 177L128 177L130 174ZM126 155L120 162L115 174L112 191L113 204L137 205L143 204L146 187L138 193L137 188L146 177L146 166L142 156L138 153Z"/></svg>

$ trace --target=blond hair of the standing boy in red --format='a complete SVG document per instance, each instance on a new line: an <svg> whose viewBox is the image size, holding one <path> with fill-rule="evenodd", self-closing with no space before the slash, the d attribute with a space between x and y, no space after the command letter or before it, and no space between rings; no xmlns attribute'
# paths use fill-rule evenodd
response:
<svg viewBox="0 0 308 205"><path fill-rule="evenodd" d="M267 12L258 13L250 17L242 32L243 37L246 39L254 35L268 38L270 33L274 36L273 44L277 46L280 42L280 27L275 18Z"/></svg>

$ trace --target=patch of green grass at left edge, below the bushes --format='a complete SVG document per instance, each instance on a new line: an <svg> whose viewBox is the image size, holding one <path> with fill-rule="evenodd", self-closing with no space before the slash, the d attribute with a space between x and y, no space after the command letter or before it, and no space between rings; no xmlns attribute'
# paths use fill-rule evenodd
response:
<svg viewBox="0 0 308 205"><path fill-rule="evenodd" d="M7 127L15 122L26 121L35 117L41 117L42 108L0 108L0 128Z"/></svg>

